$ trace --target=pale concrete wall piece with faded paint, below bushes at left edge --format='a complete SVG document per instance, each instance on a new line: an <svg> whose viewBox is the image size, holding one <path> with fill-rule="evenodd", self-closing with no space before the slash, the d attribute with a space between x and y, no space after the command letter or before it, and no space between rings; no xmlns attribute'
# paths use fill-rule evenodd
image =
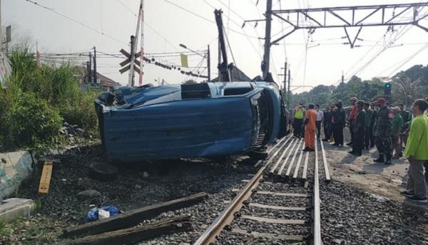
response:
<svg viewBox="0 0 428 245"><path fill-rule="evenodd" d="M0 153L0 201L13 193L22 180L33 172L32 163L30 152Z"/></svg>

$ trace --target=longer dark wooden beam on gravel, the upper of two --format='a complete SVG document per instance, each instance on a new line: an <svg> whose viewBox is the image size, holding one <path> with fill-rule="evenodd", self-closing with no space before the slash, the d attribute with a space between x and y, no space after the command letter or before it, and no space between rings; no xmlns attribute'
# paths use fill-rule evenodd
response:
<svg viewBox="0 0 428 245"><path fill-rule="evenodd" d="M124 214L119 214L116 217L112 217L111 219L102 219L65 229L63 231L63 236L70 237L80 236L82 234L101 234L103 232L115 231L117 229L125 229L139 224L144 219L156 217L156 215L163 212L189 207L195 203L201 202L205 197L207 197L207 194L201 192L188 197L171 200L169 202L131 210Z"/></svg>

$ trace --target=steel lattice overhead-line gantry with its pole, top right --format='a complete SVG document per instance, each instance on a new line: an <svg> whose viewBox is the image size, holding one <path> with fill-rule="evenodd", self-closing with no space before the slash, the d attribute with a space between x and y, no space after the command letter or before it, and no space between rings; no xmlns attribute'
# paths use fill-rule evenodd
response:
<svg viewBox="0 0 428 245"><path fill-rule="evenodd" d="M414 25L428 32L428 27L422 26L419 23L423 19L428 19L428 11L425 13L422 12L427 6L428 2L272 10L272 0L267 0L266 19L255 19L245 22L266 21L265 55L262 62L263 77L265 78L270 66L270 47L299 29L315 31L317 28L344 28L348 43L351 48L354 48L364 26L392 27ZM405 16L407 14L411 14L411 16ZM270 40L272 16L292 26L291 31L273 41ZM348 33L348 28L352 27L359 28L354 37L351 37Z"/></svg>

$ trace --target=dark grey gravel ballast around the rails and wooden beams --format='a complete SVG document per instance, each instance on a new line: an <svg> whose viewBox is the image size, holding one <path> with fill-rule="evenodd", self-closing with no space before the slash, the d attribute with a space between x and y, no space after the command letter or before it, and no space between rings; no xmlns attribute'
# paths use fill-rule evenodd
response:
<svg viewBox="0 0 428 245"><path fill-rule="evenodd" d="M320 150L320 148L319 148ZM428 216L424 211L405 204L379 200L362 189L346 184L323 181L322 155L320 165L321 229L324 244L428 244ZM310 153L307 178L312 188L313 152ZM327 152L328 155L328 152ZM39 214L21 219L14 224L0 226L0 244L58 244L56 237L61 230L81 224L86 212L92 207L116 205L129 211L157 204L198 192L208 193L208 198L199 204L184 209L166 212L148 223L183 214L193 215L193 230L159 236L139 244L188 245L198 239L210 223L228 205L237 192L245 186L243 179L251 179L253 160L228 158L223 160L175 160L147 162L133 165L117 165L118 179L100 182L88 178L89 165L103 163L100 145L78 147L55 156L61 163L54 166L49 194L37 194L41 167L21 184L13 197L30 198L39 205ZM238 167L236 167L238 165ZM301 166L302 167L302 166ZM334 176L332 177L334 179ZM271 182L272 179L265 179ZM260 183L259 190L272 192L305 193L302 182ZM79 192L93 190L98 193L78 198ZM310 189L309 189L310 190ZM258 204L285 207L310 207L312 196L270 197L255 194L249 199ZM258 207L244 207L242 214L277 219L310 219L307 212L273 212ZM248 219L235 219L233 228L273 234L307 236L310 225L299 227L260 224ZM217 244L307 244L307 241L281 241L280 239L255 238L249 235L223 231Z"/></svg>

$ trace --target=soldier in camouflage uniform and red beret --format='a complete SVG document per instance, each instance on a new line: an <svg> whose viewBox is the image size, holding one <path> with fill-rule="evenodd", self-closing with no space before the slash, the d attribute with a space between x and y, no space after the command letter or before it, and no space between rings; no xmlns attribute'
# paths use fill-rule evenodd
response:
<svg viewBox="0 0 428 245"><path fill-rule="evenodd" d="M379 157L374 162L384 162L385 165L391 164L391 123L389 121L389 108L387 100L379 98L377 100L379 112L377 113L376 125L374 127L374 136L376 136L376 146ZM386 160L385 158L386 157Z"/></svg>

